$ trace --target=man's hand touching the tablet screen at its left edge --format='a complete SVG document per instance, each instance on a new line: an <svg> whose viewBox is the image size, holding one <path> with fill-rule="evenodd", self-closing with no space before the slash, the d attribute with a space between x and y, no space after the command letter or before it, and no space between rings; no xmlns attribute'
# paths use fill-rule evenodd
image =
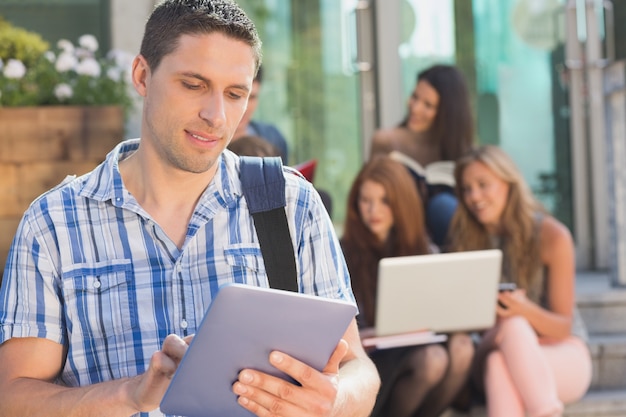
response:
<svg viewBox="0 0 626 417"><path fill-rule="evenodd" d="M147 412L159 407L191 339L193 336L181 339L170 334L163 341L163 348L152 355L148 370L129 380L130 401L138 411Z"/></svg>

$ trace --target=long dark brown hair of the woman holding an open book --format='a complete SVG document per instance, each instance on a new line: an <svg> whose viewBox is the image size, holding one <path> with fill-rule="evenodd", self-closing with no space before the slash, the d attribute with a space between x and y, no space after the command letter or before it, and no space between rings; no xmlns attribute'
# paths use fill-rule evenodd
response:
<svg viewBox="0 0 626 417"><path fill-rule="evenodd" d="M420 81L426 81L439 94L431 134L439 144L441 159L454 161L474 143L474 119L465 78L452 65L434 65L417 74L416 83ZM400 126L407 127L408 120L407 114Z"/></svg>

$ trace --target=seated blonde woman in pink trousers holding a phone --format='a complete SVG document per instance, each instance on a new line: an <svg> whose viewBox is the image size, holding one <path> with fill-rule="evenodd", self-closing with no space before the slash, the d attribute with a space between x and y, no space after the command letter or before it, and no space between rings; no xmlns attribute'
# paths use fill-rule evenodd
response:
<svg viewBox="0 0 626 417"><path fill-rule="evenodd" d="M500 248L496 325L477 348L473 379L489 416L560 416L591 381L586 331L576 310L574 245L567 228L533 198L500 148L457 161L460 205L450 226L454 251Z"/></svg>

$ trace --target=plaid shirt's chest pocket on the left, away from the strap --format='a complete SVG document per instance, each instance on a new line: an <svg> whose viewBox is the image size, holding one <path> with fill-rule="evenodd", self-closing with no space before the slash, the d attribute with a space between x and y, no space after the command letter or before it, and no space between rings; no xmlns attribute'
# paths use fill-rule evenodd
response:
<svg viewBox="0 0 626 417"><path fill-rule="evenodd" d="M109 338L137 327L137 301L129 259L74 264L63 271L68 327Z"/></svg>

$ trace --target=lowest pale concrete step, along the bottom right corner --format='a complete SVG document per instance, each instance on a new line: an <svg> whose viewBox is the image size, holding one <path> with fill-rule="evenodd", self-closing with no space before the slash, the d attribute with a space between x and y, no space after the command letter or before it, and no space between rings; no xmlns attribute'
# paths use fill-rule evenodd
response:
<svg viewBox="0 0 626 417"><path fill-rule="evenodd" d="M472 407L468 413L447 410L441 417L486 417L484 406ZM624 417L626 389L589 391L580 401L565 407L563 417Z"/></svg>

